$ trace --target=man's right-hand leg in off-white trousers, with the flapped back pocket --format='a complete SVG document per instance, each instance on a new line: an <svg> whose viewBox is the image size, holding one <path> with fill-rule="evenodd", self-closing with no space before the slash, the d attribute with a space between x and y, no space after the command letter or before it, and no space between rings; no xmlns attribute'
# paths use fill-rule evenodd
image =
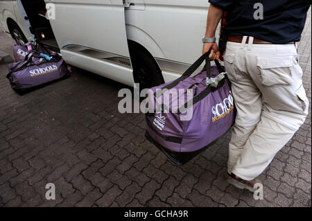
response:
<svg viewBox="0 0 312 221"><path fill-rule="evenodd" d="M257 56L250 54L246 60L249 73L263 95L263 112L232 171L245 180L254 179L266 169L304 123L309 107L295 48L291 45L257 47L253 48ZM266 47L275 48L275 54L263 53Z"/></svg>

